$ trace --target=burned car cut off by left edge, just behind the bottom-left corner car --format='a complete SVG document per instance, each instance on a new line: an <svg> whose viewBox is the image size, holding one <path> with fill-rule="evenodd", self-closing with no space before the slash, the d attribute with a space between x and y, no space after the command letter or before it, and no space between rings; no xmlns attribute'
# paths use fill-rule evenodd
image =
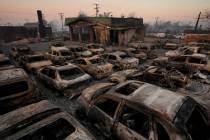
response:
<svg viewBox="0 0 210 140"><path fill-rule="evenodd" d="M38 100L38 90L21 68L0 71L0 114Z"/></svg>

